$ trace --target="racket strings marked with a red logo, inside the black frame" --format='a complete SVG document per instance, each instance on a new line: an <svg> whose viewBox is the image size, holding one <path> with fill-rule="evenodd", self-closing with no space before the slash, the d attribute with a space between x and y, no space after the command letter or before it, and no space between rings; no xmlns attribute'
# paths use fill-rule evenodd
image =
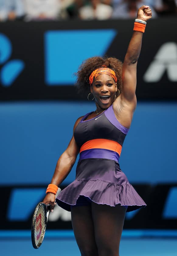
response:
<svg viewBox="0 0 177 256"><path fill-rule="evenodd" d="M34 239L36 246L40 246L43 242L46 230L46 209L42 204L36 209L36 220L34 225Z"/></svg>

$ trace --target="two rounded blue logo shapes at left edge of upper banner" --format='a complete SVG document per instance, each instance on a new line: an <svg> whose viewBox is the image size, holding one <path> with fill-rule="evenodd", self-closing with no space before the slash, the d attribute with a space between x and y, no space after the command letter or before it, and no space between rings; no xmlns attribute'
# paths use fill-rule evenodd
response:
<svg viewBox="0 0 177 256"><path fill-rule="evenodd" d="M12 44L9 38L0 33L0 82L2 86L8 87L13 84L19 74L23 71L25 64L22 60L7 60L12 54Z"/></svg>

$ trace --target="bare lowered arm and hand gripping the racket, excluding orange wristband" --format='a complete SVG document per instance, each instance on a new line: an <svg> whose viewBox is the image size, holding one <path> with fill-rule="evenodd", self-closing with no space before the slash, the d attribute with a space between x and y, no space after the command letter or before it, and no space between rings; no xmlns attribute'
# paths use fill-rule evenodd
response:
<svg viewBox="0 0 177 256"><path fill-rule="evenodd" d="M82 117L78 118L75 125L74 125L74 131L78 123ZM72 166L74 165L77 155L79 153L78 145L75 142L74 135L71 138L71 141L67 147L67 149L63 152L63 154L60 156L60 158L57 161L57 165L55 167L54 175L51 180L51 184L59 186L61 182L68 176L70 173ZM55 194L48 192L45 198L43 199L43 203L48 204L50 203L51 210L54 209L54 203L55 203Z"/></svg>

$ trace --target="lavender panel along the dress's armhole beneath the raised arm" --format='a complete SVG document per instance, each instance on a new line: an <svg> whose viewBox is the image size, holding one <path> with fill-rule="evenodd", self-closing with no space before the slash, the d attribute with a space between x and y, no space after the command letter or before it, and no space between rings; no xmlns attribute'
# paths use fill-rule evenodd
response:
<svg viewBox="0 0 177 256"><path fill-rule="evenodd" d="M116 126L117 129L119 129L124 134L127 134L129 129L124 127L122 124L119 123L119 121L116 119L116 116L114 114L113 105L111 105L106 111L104 112L106 115L106 118L111 122L114 126Z"/></svg>

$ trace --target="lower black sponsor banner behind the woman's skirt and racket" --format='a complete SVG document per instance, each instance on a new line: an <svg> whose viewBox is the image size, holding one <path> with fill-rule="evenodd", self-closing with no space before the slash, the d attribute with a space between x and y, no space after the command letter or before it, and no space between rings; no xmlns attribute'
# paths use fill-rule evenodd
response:
<svg viewBox="0 0 177 256"><path fill-rule="evenodd" d="M177 184L133 184L147 207L126 214L124 229L176 229ZM46 186L0 187L4 195L1 230L31 228L34 208L45 196ZM64 187L61 187L62 189ZM56 206L47 229L72 229L71 213Z"/></svg>

